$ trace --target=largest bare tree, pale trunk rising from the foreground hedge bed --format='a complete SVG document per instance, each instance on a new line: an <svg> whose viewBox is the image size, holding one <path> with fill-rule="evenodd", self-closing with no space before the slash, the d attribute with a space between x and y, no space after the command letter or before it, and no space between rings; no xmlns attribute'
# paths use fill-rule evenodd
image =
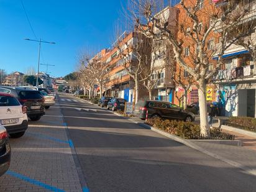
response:
<svg viewBox="0 0 256 192"><path fill-rule="evenodd" d="M244 1L230 0L222 7L212 4L209 9L206 9L202 4L204 1L181 0L177 7L180 12L183 12L185 18L179 17L179 22L176 22L178 30L175 30L174 21L170 19L170 15L177 14L177 9L168 7L162 12L155 12L157 0L132 0L130 2L130 13L137 22L137 29L147 37L157 36L170 43L177 64L188 71L198 84L201 134L209 134L206 83L223 65L224 51L242 36L240 34L231 42L227 40L227 34L247 13ZM170 11L172 11L171 14ZM216 29L219 30L214 33ZM178 31L183 35L177 35ZM217 36L222 37L216 51L219 59L214 69L209 71L213 54L209 40L214 40ZM194 54L190 54L191 52Z"/></svg>

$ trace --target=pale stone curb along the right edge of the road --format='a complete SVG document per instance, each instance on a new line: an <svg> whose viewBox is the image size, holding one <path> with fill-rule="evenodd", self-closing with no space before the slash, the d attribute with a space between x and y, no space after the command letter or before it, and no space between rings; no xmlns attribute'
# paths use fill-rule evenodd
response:
<svg viewBox="0 0 256 192"><path fill-rule="evenodd" d="M86 102L88 102L88 101L86 101ZM93 104L91 102L88 102L88 103ZM93 104L93 105L96 105L96 104ZM168 134L167 132L164 132L163 130L155 129L154 127L148 126L147 124L144 124L144 123L142 124L140 122L136 122L136 121L134 121L132 119L126 118L124 116L121 116L120 114L117 114L116 112L112 112L112 113L116 114L117 116L123 117L124 119L128 119L130 122L138 124L140 127L144 127L145 129L151 129L154 132L157 132L158 134L164 135L165 137L168 137L168 138L170 138L172 140L175 140L176 142L179 142L181 144L184 144L184 145L186 145L186 146L188 146L188 147L190 147L190 148L192 148L194 150L197 150L197 151L199 151L201 153L209 155L210 157L216 158L217 160L221 160L222 162L225 162L225 163L227 163L229 165L232 165L232 166L234 166L236 168L239 168L240 170L243 170L246 173L249 173L250 175L256 176L256 170L255 169L251 169L249 167L245 167L245 166L241 165L240 163L234 162L234 161L229 160L227 158L221 157L220 155L217 155L215 153L209 152L208 150L205 150L205 149L199 147L198 145L193 144L189 140L181 139L180 137L178 137L176 135Z"/></svg>

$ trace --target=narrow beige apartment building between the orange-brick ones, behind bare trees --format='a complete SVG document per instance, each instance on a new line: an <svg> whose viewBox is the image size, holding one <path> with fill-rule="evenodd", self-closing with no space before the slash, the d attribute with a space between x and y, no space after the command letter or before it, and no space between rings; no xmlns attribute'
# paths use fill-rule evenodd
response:
<svg viewBox="0 0 256 192"><path fill-rule="evenodd" d="M166 7L155 15L161 21L168 22L168 29L173 30L176 34L178 9L176 7ZM153 29L155 34L159 33L157 28ZM154 50L152 52L152 68L154 80L157 80L157 85L152 91L153 98L159 101L173 102L173 93L175 91L175 83L173 81L173 70L176 64L173 60L173 49L165 40L154 40Z"/></svg>

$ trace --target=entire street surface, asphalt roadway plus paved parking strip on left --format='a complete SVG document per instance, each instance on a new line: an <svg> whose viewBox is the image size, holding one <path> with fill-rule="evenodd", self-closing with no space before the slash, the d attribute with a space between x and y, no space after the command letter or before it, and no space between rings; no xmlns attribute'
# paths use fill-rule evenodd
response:
<svg viewBox="0 0 256 192"><path fill-rule="evenodd" d="M0 191L255 191L254 176L70 94L29 124Z"/></svg>

